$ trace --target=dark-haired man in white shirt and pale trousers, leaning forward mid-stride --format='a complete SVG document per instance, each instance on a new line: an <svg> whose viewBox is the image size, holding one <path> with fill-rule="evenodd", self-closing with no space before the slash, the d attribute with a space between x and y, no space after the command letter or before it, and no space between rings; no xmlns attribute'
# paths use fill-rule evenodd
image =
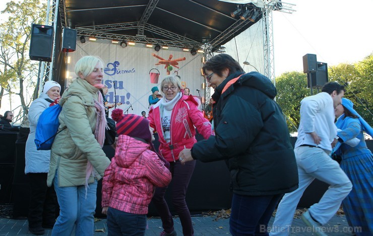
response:
<svg viewBox="0 0 373 236"><path fill-rule="evenodd" d="M300 104L300 123L295 142L295 158L298 166L299 188L284 195L277 208L271 236L288 235L295 208L304 190L316 179L330 185L320 201L303 213L302 220L317 235L326 235L326 224L349 194L352 184L339 164L329 156L332 142L336 143L337 127L334 124L334 108L344 95L344 87L336 82L324 85L322 93L304 98ZM294 229L295 230L295 229Z"/></svg>

